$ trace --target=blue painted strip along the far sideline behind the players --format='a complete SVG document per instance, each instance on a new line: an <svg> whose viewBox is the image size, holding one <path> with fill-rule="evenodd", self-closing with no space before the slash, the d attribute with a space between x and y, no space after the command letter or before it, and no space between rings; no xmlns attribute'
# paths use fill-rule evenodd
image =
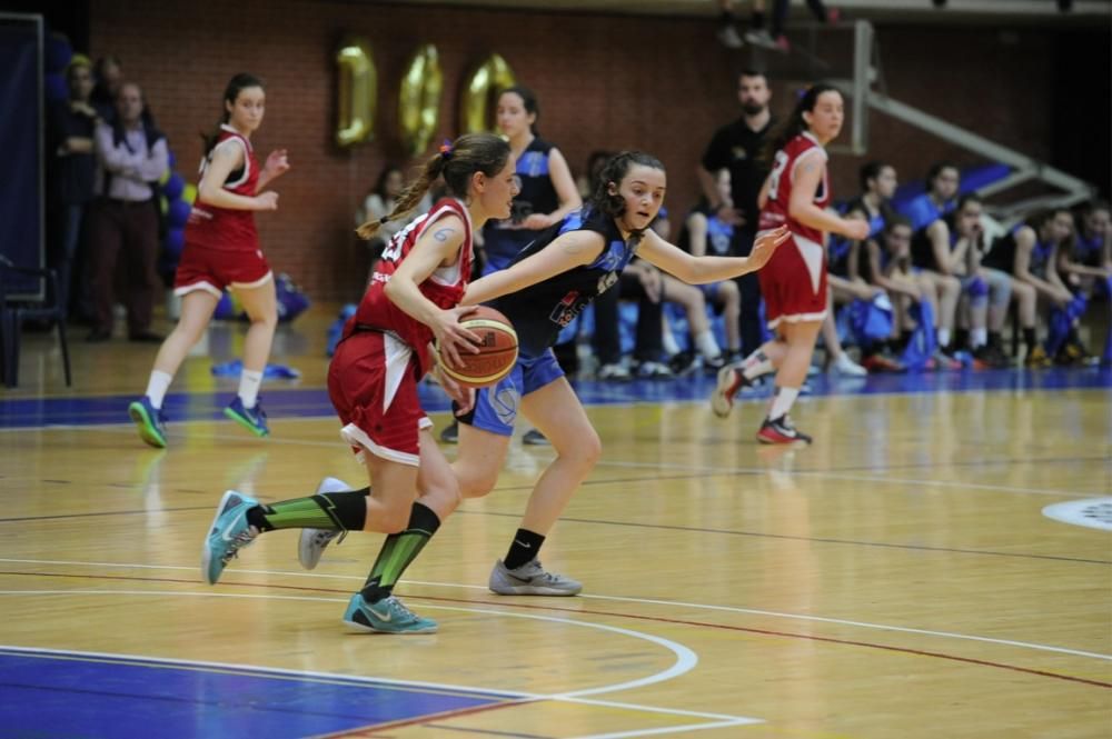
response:
<svg viewBox="0 0 1112 739"><path fill-rule="evenodd" d="M907 375L870 375L844 378L816 375L808 379L813 396L1026 391L1069 389L1112 389L1112 368L1076 368L1029 370L987 370L960 372L924 372ZM598 382L577 380L573 383L587 406L705 401L714 389L713 377L688 377L674 380L637 380L633 382ZM759 389L752 397L765 395ZM173 421L219 420L231 398L229 391L171 393L165 411ZM751 397L748 395L744 397ZM421 405L428 412L446 411L448 398L439 387L420 386ZM127 407L133 396L97 396L71 398L0 399L0 428L38 428L43 426L89 426L96 423L129 423ZM264 407L271 419L332 418L331 402L324 388L271 389L264 391Z"/></svg>

